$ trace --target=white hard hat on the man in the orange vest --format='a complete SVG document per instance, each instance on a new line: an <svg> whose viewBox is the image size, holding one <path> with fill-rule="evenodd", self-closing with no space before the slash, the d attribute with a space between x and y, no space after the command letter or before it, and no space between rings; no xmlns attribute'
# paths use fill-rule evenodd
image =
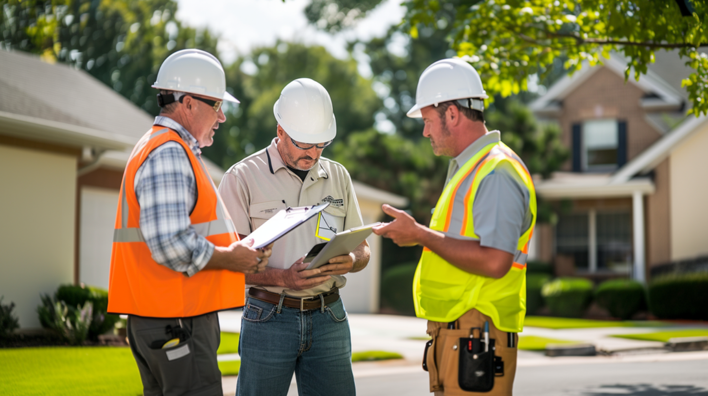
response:
<svg viewBox="0 0 708 396"><path fill-rule="evenodd" d="M226 77L219 59L202 50L181 50L162 62L152 88L210 96L240 103L226 91Z"/></svg>

